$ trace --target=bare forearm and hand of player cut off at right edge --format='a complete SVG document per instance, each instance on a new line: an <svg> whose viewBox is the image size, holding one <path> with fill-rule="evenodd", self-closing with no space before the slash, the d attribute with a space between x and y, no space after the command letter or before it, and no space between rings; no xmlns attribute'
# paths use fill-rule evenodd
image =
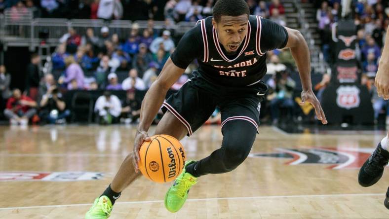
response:
<svg viewBox="0 0 389 219"><path fill-rule="evenodd" d="M389 100L389 27L374 83L377 87L378 96Z"/></svg>

